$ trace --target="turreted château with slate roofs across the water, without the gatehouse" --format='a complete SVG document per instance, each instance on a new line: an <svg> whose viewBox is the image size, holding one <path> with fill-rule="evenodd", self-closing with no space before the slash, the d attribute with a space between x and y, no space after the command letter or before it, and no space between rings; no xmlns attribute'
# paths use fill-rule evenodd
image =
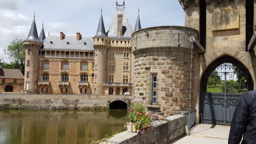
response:
<svg viewBox="0 0 256 144"><path fill-rule="evenodd" d="M141 29L138 16L134 31ZM80 33L40 36L35 25L24 41L26 48L24 89L32 93L85 93L124 95L132 93L131 35L125 2L116 3L116 12L105 31L101 13L93 38Z"/></svg>

